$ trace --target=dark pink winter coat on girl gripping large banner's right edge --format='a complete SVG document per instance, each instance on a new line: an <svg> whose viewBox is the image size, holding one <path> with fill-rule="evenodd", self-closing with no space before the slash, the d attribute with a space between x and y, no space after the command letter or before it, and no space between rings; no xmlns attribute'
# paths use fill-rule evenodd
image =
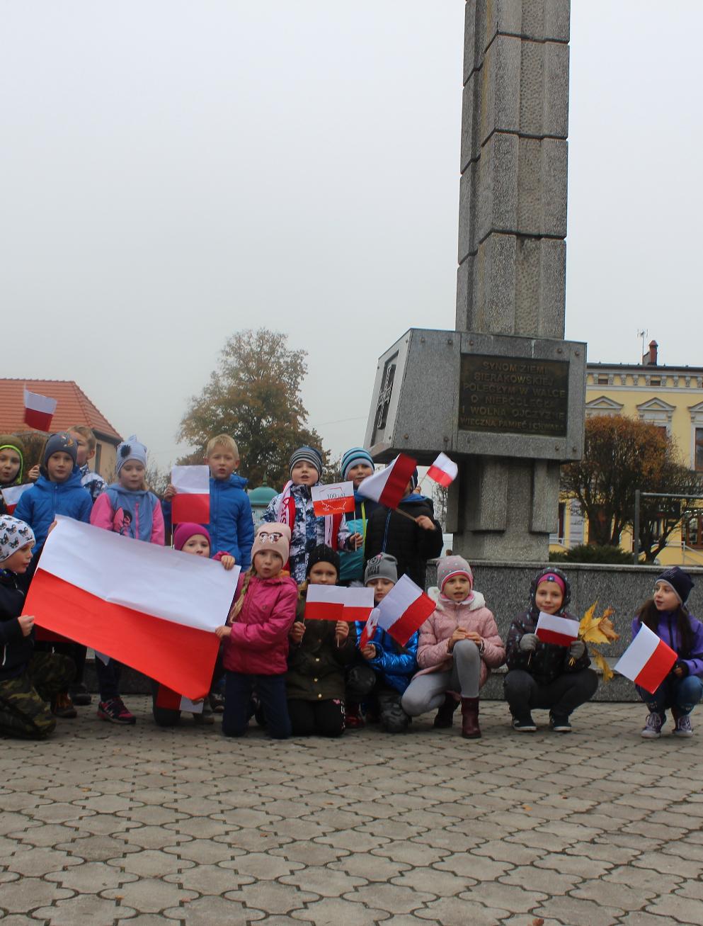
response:
<svg viewBox="0 0 703 926"><path fill-rule="evenodd" d="M239 600L240 583L235 602ZM298 586L289 575L252 576L244 605L225 638L224 665L244 675L280 675L288 669L288 632L295 620Z"/></svg>

